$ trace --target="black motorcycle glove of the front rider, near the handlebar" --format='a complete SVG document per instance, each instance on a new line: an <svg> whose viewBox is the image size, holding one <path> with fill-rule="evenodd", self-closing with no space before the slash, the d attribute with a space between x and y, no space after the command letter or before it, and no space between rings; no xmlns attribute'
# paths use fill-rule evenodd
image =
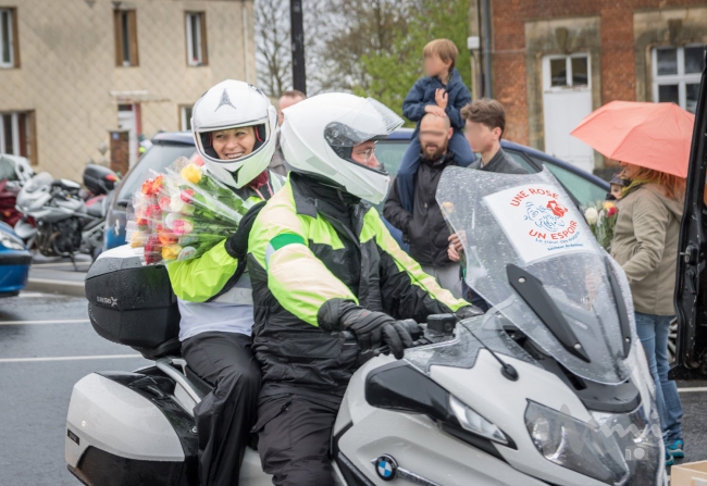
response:
<svg viewBox="0 0 707 486"><path fill-rule="evenodd" d="M380 348L385 344L390 348L393 356L399 360L404 356L405 348L412 346L412 337L407 324L383 312L351 306L342 314L339 325L342 329L356 334L361 350Z"/></svg>

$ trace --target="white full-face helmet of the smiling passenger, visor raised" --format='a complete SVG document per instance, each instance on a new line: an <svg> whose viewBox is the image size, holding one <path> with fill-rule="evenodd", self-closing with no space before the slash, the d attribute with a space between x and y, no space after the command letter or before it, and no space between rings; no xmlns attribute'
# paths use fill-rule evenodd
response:
<svg viewBox="0 0 707 486"><path fill-rule="evenodd" d="M234 160L221 160L213 149L212 133L252 126L252 152ZM277 111L270 99L248 83L226 79L213 86L194 105L191 133L208 171L222 183L237 189L260 175L275 151Z"/></svg>

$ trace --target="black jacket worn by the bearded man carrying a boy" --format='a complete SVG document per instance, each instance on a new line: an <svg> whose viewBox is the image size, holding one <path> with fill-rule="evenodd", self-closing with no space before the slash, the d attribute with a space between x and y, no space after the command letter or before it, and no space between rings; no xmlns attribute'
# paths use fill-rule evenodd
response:
<svg viewBox="0 0 707 486"><path fill-rule="evenodd" d="M451 151L437 162L421 155L420 169L414 175L412 214L402 207L395 182L383 209L385 219L400 229L404 239L410 242L410 257L422 265L444 266L450 263L447 257L449 228L435 199L442 172L450 165L457 165Z"/></svg>

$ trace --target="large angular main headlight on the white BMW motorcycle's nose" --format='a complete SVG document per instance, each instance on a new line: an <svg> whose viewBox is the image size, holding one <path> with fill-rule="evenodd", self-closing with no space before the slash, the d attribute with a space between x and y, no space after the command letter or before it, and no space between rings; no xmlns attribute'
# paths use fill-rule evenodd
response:
<svg viewBox="0 0 707 486"><path fill-rule="evenodd" d="M533 401L525 426L537 450L550 462L606 484L623 484L629 466L611 436L598 426Z"/></svg>

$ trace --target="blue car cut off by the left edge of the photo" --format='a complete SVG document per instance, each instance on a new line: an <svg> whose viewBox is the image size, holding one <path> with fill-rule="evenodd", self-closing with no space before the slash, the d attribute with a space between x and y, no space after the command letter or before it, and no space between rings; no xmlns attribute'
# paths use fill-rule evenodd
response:
<svg viewBox="0 0 707 486"><path fill-rule="evenodd" d="M12 297L27 285L32 254L12 226L0 222L0 297Z"/></svg>

